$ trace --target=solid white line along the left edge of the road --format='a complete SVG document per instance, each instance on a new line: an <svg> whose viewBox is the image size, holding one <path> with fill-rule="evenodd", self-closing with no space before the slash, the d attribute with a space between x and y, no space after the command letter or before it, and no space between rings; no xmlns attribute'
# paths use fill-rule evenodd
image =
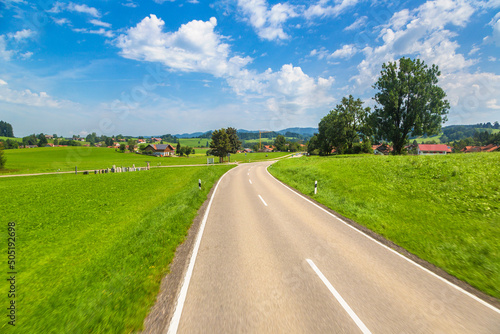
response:
<svg viewBox="0 0 500 334"><path fill-rule="evenodd" d="M196 236L196 242L194 244L193 254L191 255L191 259L189 260L189 266L186 271L186 275L184 276L184 281L182 282L182 288L179 293L179 297L177 298L177 305L175 307L174 315L170 320L167 334L177 333L179 322L181 321L182 309L184 308L184 302L186 301L189 282L191 280L191 276L193 275L194 263L196 262L196 256L198 255L198 249L200 248L201 237L203 236L203 230L205 229L205 225L207 223L208 214L210 213L210 207L212 206L212 201L214 199L215 193L217 192L217 188L219 187L220 182L222 181L224 176L226 176L226 174L232 170L233 169L230 169L226 173L224 173L224 175L222 175L222 177L217 182L217 185L215 186L214 192L212 193L212 197L210 197L210 202L208 202L207 210L205 211L205 215L203 216L203 221L201 222L200 229L198 230L198 235Z"/></svg>

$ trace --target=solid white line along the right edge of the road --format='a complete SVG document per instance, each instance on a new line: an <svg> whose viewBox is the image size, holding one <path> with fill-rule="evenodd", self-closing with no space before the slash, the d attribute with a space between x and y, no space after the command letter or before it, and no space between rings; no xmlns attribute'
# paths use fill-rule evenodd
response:
<svg viewBox="0 0 500 334"><path fill-rule="evenodd" d="M355 228L354 226L352 226L351 224L347 224L345 221L343 221L342 219L340 219L339 217L335 216L333 213L331 213L330 211L328 210L325 210L324 208L322 208L321 206L319 206L318 204L314 203L313 201L311 201L310 199L302 196L301 194L293 191L292 189L290 189L289 187L287 187L283 182L281 182L280 180L278 180L277 178L275 178L271 173L269 173L269 170L267 169L269 168L266 167L266 171L267 173L273 178L275 179L276 181L278 181L279 184L281 184L283 187L285 187L286 189L288 189L289 191L291 191L292 193L294 193L295 195L301 197L302 199L306 200L307 202L311 203L312 205L314 205L315 207L317 207L318 209L320 210L323 210L324 212L326 212L327 214L329 214L330 216L332 216L333 218L339 220L340 222L344 223L344 225L352 228L354 231L364 235L365 237L367 237L368 239L376 242L377 244L379 244L380 246L384 247L385 249L391 251L392 253L396 254L397 256L401 257L402 259L405 259L406 261L408 261L409 263L411 264L414 264L415 266L417 266L418 268L422 269L423 271L427 272L428 274L436 277L437 279L441 280L442 282L448 284L449 286L457 289L458 291L464 293L465 295L469 296L470 298L474 299L475 301L479 302L480 304L486 306L487 308L491 309L492 311L500 314L500 310L498 308L496 308L495 306L485 302L484 300L482 300L481 298L478 298L476 297L475 295L473 295L472 293L468 292L468 291L465 291L464 289L462 289L461 287L459 287L458 285L455 285L453 284L452 282L442 278L441 276L437 275L436 273L430 271L429 269L425 268L425 267L422 267L420 264L416 263L415 261L413 261L412 259L409 259L407 258L406 256L404 256L403 254L400 254L398 252L396 252L394 249L390 248L390 247L387 247L386 245L384 245L383 243L381 243L380 241L372 238L371 236L369 236L368 234L364 233L363 231L361 230L358 230L357 228Z"/></svg>

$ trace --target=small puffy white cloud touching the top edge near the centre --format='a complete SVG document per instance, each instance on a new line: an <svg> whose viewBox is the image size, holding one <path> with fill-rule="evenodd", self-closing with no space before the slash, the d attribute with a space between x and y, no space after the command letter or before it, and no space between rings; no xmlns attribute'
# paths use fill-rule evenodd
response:
<svg viewBox="0 0 500 334"><path fill-rule="evenodd" d="M238 7L247 16L257 35L269 41L290 38L283 30L283 25L288 19L298 16L295 7L288 3L278 3L268 9L266 0L239 0Z"/></svg>

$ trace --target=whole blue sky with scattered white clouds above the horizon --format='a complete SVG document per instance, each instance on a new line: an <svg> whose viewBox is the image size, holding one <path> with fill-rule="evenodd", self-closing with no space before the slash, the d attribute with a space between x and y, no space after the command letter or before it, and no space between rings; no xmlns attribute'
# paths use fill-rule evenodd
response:
<svg viewBox="0 0 500 334"><path fill-rule="evenodd" d="M30 133L316 127L384 62L437 64L447 124L500 120L500 0L0 0L0 119Z"/></svg>

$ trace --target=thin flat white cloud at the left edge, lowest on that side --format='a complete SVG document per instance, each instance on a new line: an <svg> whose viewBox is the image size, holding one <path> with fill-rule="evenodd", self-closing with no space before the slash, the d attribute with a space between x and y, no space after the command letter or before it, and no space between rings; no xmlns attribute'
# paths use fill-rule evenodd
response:
<svg viewBox="0 0 500 334"><path fill-rule="evenodd" d="M10 89L4 80L0 80L0 101L33 107L62 108L73 105L70 101L55 100L46 92L35 93L29 89L23 91Z"/></svg>

